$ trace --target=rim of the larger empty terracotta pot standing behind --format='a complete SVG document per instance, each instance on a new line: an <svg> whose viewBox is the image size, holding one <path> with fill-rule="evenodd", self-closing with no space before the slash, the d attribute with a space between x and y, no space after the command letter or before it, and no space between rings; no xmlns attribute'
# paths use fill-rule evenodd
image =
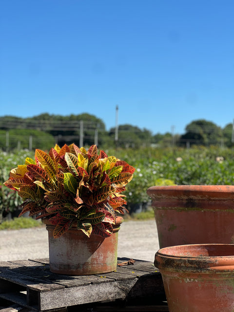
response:
<svg viewBox="0 0 234 312"><path fill-rule="evenodd" d="M167 185L167 186L151 186L147 190L147 194L154 198L163 196L173 196L175 198L183 198L184 196L191 198L225 198L234 199L234 185Z"/></svg>

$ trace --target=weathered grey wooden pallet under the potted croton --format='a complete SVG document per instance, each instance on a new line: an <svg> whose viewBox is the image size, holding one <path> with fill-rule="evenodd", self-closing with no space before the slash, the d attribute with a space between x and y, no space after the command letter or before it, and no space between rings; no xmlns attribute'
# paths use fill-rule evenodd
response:
<svg viewBox="0 0 234 312"><path fill-rule="evenodd" d="M118 263L125 260L119 258ZM0 262L0 298L34 311L164 297L161 275L148 261L136 260L134 265L117 266L116 272L86 276L51 273L48 259Z"/></svg>

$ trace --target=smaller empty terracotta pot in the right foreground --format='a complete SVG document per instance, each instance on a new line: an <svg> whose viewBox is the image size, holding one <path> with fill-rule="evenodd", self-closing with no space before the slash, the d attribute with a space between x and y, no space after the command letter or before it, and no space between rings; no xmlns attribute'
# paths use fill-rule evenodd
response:
<svg viewBox="0 0 234 312"><path fill-rule="evenodd" d="M155 255L170 312L234 311L234 245L171 246Z"/></svg>

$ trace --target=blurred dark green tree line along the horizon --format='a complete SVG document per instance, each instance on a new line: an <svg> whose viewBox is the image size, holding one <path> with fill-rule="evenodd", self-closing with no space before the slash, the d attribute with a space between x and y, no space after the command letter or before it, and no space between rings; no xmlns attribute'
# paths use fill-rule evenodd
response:
<svg viewBox="0 0 234 312"><path fill-rule="evenodd" d="M190 122L182 135L173 133L153 134L150 130L131 124L119 125L106 130L104 122L91 114L50 115L21 118L0 117L0 149L49 149L59 145L75 143L78 146L97 144L102 148L169 147L191 145L219 145L232 147L234 144L233 124L223 129L205 119Z"/></svg>

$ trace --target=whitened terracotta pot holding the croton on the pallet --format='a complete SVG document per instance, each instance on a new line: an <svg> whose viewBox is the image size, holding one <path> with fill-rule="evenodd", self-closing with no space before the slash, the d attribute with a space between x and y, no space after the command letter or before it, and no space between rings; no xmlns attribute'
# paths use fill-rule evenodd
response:
<svg viewBox="0 0 234 312"><path fill-rule="evenodd" d="M68 275L92 275L113 272L117 268L117 237L122 217L117 217L114 232L107 238L70 229L59 238L53 237L55 226L47 223L50 270Z"/></svg>

